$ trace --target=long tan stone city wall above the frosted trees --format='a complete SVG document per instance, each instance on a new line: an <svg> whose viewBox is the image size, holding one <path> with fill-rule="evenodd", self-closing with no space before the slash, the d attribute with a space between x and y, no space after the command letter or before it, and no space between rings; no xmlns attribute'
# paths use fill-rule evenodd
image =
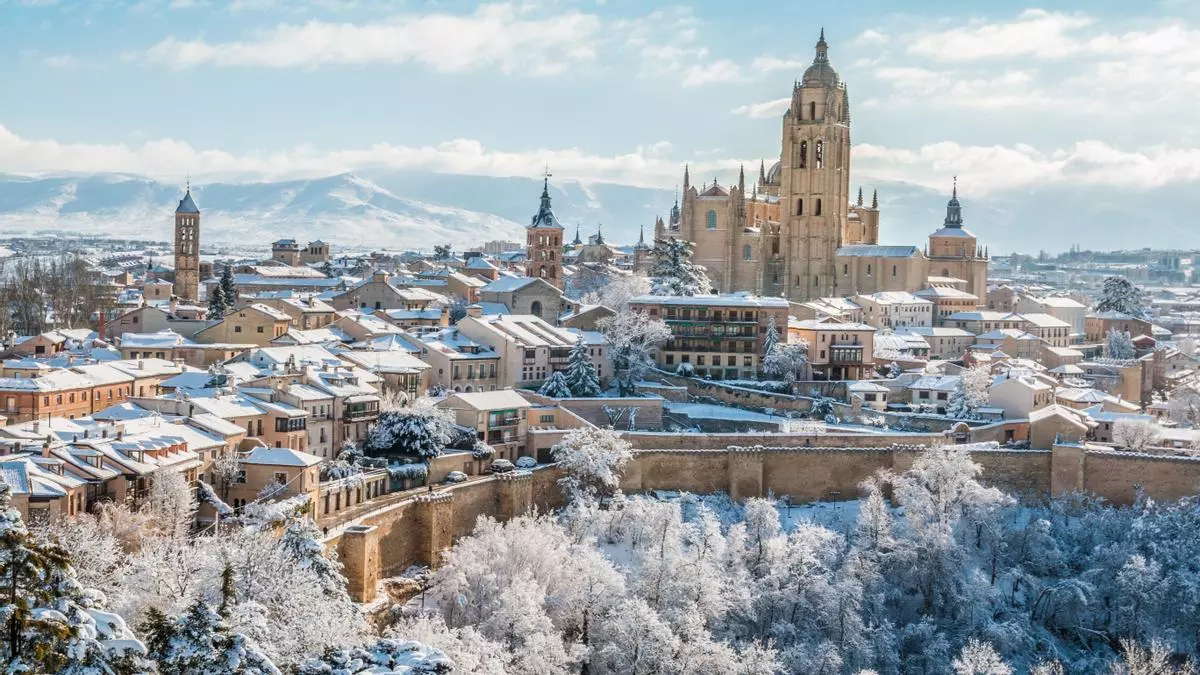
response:
<svg viewBox="0 0 1200 675"><path fill-rule="evenodd" d="M773 495L793 503L856 498L864 479L880 471L906 471L923 449L918 443L944 438L914 434L906 435L905 444L895 444L895 436L859 435L856 447L829 447L835 442L829 436L809 437L810 443L820 440L824 446L814 447L805 446L804 437L775 434L626 437L636 448L622 477L626 492L727 492L736 500ZM1159 501L1200 489L1196 458L1086 452L1074 444L1052 450L973 447L971 456L983 467L985 484L1027 500L1085 491L1129 504L1139 489ZM560 476L560 470L546 466L408 496L354 519L326 543L340 554L350 595L370 602L379 579L413 565L438 567L442 552L469 534L479 516L506 520L557 508L563 502Z"/></svg>

